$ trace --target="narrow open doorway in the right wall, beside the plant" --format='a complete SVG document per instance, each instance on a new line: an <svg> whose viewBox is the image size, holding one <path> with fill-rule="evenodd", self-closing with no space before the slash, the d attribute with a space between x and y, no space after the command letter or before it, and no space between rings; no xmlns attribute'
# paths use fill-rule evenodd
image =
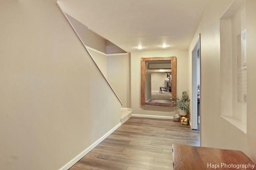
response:
<svg viewBox="0 0 256 170"><path fill-rule="evenodd" d="M192 129L200 129L200 34L192 50Z"/></svg>

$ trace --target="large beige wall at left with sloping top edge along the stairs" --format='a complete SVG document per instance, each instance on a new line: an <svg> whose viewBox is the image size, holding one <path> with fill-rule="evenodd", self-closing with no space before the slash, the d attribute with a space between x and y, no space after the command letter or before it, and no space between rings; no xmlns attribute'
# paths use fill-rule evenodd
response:
<svg viewBox="0 0 256 170"><path fill-rule="evenodd" d="M120 123L120 102L56 0L0 11L1 169L57 170Z"/></svg>

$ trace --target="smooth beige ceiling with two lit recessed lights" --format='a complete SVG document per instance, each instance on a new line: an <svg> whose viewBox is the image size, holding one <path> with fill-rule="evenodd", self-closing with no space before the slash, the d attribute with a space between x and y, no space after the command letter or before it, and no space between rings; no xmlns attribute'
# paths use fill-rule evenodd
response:
<svg viewBox="0 0 256 170"><path fill-rule="evenodd" d="M58 4L90 30L130 53L188 49L208 1L58 0ZM163 44L168 46L163 48Z"/></svg>

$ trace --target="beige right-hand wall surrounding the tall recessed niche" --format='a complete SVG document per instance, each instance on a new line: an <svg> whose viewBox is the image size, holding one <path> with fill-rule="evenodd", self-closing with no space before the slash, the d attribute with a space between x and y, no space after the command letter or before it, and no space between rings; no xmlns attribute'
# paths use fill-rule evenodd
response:
<svg viewBox="0 0 256 170"><path fill-rule="evenodd" d="M256 90L256 2L246 0L247 29L247 133L221 117L220 88L220 18L232 0L210 0L188 49L188 66L191 72L191 51L201 33L201 145L245 152L256 162L255 96ZM189 74L191 84L191 74ZM189 89L191 90L191 86ZM230 98L230 100L232 100Z"/></svg>

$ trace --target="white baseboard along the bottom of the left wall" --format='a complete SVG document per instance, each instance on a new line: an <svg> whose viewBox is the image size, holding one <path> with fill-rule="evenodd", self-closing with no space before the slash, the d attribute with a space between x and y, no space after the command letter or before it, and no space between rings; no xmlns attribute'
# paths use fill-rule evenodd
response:
<svg viewBox="0 0 256 170"><path fill-rule="evenodd" d="M88 147L87 149L82 151L75 158L70 160L66 165L62 166L62 168L60 168L59 170L68 170L71 166L73 166L76 162L78 162L78 160L80 160L82 157L84 157L86 154L88 154L88 152L90 152L92 149L94 149L94 147L96 147L98 144L100 144L104 139L106 139L106 137L108 137L112 132L114 132L120 126L121 126L121 123L118 123L118 125L116 125L113 129L108 131L108 133L106 133L104 136L102 136L100 139L98 139L98 141L96 141L90 147Z"/></svg>

